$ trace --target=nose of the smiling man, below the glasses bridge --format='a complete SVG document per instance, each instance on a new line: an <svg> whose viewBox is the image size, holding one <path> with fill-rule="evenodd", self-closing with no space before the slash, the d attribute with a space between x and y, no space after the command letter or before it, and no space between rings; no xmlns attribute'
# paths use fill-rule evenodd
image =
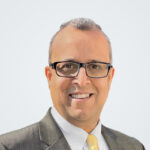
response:
<svg viewBox="0 0 150 150"><path fill-rule="evenodd" d="M83 87L90 83L89 77L86 75L84 67L81 67L78 73L78 76L73 80L74 84L78 84L80 87Z"/></svg>

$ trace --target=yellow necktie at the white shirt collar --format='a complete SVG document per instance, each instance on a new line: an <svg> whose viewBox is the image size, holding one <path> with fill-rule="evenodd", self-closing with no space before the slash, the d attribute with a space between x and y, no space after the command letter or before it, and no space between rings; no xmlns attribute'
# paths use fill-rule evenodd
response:
<svg viewBox="0 0 150 150"><path fill-rule="evenodd" d="M88 143L89 150L98 150L97 138L94 135L89 134L86 141Z"/></svg>

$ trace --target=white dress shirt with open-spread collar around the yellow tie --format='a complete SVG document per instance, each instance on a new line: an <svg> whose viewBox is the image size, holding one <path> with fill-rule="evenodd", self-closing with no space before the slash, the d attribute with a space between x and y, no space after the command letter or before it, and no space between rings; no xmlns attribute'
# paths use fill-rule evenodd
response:
<svg viewBox="0 0 150 150"><path fill-rule="evenodd" d="M86 139L88 133L81 128L78 128L65 120L55 109L52 107L51 113L55 121L57 122L59 128L64 134L71 150L88 150L88 144ZM97 124L95 129L90 133L96 136L98 139L98 147L100 150L109 150L108 145L101 134L101 122Z"/></svg>

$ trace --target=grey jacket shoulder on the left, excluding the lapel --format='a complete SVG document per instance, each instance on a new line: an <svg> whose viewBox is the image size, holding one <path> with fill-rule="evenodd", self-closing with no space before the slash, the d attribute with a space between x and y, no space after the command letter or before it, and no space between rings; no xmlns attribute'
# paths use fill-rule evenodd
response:
<svg viewBox="0 0 150 150"><path fill-rule="evenodd" d="M39 123L0 136L0 147L9 150L39 149ZM22 147L22 148L21 148Z"/></svg>

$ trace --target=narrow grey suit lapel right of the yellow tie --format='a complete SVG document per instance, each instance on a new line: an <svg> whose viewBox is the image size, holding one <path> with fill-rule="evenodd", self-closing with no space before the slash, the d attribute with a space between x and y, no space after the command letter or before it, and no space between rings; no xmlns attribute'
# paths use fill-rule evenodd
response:
<svg viewBox="0 0 150 150"><path fill-rule="evenodd" d="M102 125L102 135L109 147L109 150L123 150L117 143L117 136L110 129Z"/></svg>

